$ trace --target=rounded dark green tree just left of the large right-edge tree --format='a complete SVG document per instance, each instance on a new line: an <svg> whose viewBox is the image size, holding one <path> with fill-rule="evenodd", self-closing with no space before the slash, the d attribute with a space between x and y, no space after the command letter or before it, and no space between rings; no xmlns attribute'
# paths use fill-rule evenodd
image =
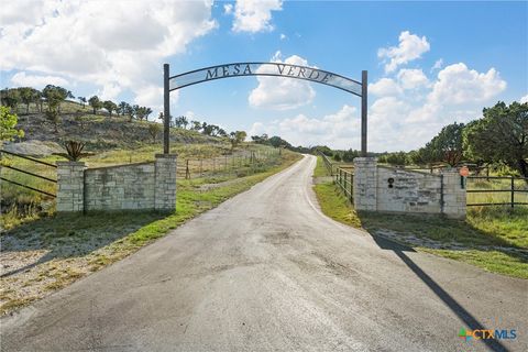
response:
<svg viewBox="0 0 528 352"><path fill-rule="evenodd" d="M458 165L463 156L462 131L463 123L446 125L429 143L426 144L424 154L430 163L443 162L450 166Z"/></svg>

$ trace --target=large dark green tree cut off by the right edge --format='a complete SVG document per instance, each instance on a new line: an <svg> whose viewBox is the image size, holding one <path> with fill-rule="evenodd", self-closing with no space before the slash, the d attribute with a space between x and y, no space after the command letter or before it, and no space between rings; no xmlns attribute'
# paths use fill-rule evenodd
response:
<svg viewBox="0 0 528 352"><path fill-rule="evenodd" d="M468 124L463 146L472 160L504 163L528 177L528 102L499 101Z"/></svg>

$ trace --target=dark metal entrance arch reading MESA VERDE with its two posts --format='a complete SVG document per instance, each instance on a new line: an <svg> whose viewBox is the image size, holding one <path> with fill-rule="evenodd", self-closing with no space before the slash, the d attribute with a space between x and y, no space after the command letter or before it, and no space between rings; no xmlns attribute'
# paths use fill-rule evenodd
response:
<svg viewBox="0 0 528 352"><path fill-rule="evenodd" d="M184 87L230 77L271 76L308 80L331 86L361 98L361 155L366 156L366 109L367 109L367 72L361 72L361 81L330 73L328 70L290 65L284 63L233 63L199 68L176 76L170 76L168 64L163 65L163 152L169 153L170 91Z"/></svg>

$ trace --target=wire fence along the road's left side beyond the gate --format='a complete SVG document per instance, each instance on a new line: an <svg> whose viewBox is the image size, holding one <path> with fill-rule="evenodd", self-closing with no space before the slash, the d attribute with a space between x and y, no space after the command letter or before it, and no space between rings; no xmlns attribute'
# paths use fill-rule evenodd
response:
<svg viewBox="0 0 528 352"><path fill-rule="evenodd" d="M264 165L276 164L280 150L241 151L230 155L209 158L187 158L178 163L177 177L191 179L208 175L248 173L252 174Z"/></svg>

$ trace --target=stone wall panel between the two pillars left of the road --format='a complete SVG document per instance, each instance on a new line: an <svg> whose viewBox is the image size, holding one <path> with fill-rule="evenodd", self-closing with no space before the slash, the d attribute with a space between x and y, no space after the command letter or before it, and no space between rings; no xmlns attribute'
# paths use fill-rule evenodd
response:
<svg viewBox="0 0 528 352"><path fill-rule="evenodd" d="M89 168L85 210L154 209L154 163Z"/></svg>

